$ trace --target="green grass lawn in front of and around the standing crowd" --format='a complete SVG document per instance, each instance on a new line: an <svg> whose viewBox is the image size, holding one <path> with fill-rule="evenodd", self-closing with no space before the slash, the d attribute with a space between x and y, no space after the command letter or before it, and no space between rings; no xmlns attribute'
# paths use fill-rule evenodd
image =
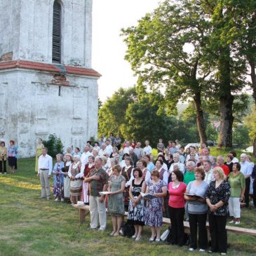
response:
<svg viewBox="0 0 256 256"><path fill-rule="evenodd" d="M78 210L67 203L39 199L39 179L34 174L34 159L20 159L15 175L0 176L0 255L199 255L165 243L149 243L148 227L142 241L110 237L107 231L89 231L90 217L79 224ZM255 208L243 209L241 227L256 229ZM167 227L164 226L163 230ZM228 234L229 255L255 255L256 238ZM200 253L201 255L201 253Z"/></svg>

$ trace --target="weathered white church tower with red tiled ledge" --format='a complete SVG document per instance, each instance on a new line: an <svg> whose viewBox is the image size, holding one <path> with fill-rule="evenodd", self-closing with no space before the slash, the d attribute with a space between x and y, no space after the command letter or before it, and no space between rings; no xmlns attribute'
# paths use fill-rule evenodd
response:
<svg viewBox="0 0 256 256"><path fill-rule="evenodd" d="M92 2L0 1L0 140L22 157L39 137L83 147L97 135Z"/></svg>

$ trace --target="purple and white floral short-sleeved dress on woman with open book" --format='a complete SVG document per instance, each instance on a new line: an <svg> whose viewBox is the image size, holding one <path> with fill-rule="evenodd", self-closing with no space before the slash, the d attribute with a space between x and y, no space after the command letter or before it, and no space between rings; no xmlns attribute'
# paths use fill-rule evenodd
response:
<svg viewBox="0 0 256 256"><path fill-rule="evenodd" d="M166 182L159 180L157 184L153 184L151 180L147 182L149 194L163 192L162 187L166 187ZM144 223L150 227L162 227L163 225L163 198L151 198L146 203Z"/></svg>

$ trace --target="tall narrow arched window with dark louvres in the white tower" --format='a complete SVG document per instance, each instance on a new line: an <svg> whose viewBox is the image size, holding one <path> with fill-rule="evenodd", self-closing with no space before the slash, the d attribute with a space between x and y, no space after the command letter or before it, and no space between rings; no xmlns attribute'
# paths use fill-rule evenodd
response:
<svg viewBox="0 0 256 256"><path fill-rule="evenodd" d="M53 61L61 60L61 5L58 1L53 4Z"/></svg>

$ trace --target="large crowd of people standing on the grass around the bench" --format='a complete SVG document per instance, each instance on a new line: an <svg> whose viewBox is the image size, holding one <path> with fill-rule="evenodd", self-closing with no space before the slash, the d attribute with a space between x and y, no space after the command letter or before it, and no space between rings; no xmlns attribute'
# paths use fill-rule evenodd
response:
<svg viewBox="0 0 256 256"><path fill-rule="evenodd" d="M121 144L118 135L102 135L99 142L88 142L82 152L68 147L65 154L55 156L53 166L39 139L35 170L41 181L41 198L50 199L53 174L55 201L83 201L90 208L90 228L100 231L107 227L107 208L112 215L111 236L119 236L127 212L135 227L135 241L140 241L144 225L151 229L150 242L161 241L163 217L170 217L171 243L182 246L186 242L183 221L187 220L190 251L207 250L208 220L208 252L225 255L228 215L229 223L240 224L241 203L248 207L250 194L256 207L256 167L250 156L241 154L239 161L236 152L230 151L225 157L215 157L206 144L184 149L177 140L165 147L160 139L156 149L155 158L149 140L142 147L134 140Z"/></svg>

